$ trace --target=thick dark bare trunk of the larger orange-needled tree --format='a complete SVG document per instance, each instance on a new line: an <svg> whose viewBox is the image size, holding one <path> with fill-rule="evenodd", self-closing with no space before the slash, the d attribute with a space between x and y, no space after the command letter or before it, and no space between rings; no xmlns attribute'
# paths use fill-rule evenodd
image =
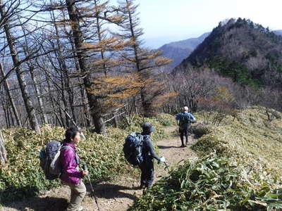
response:
<svg viewBox="0 0 282 211"><path fill-rule="evenodd" d="M66 6L68 8L68 15L71 20L71 28L73 31L73 40L75 43L75 50L78 55L78 63L80 66L80 71L83 73L87 72L87 65L85 60L85 53L81 51L82 47L82 32L80 30L78 11L75 7L74 0L66 0ZM91 94L88 89L91 89L91 79L90 74L83 78L83 84L85 85L85 89L87 91L87 98L90 104L90 111L92 114L92 119L95 126L95 131L99 134L106 134L106 127L104 125L102 119L101 106L99 105L99 101L97 96Z"/></svg>

